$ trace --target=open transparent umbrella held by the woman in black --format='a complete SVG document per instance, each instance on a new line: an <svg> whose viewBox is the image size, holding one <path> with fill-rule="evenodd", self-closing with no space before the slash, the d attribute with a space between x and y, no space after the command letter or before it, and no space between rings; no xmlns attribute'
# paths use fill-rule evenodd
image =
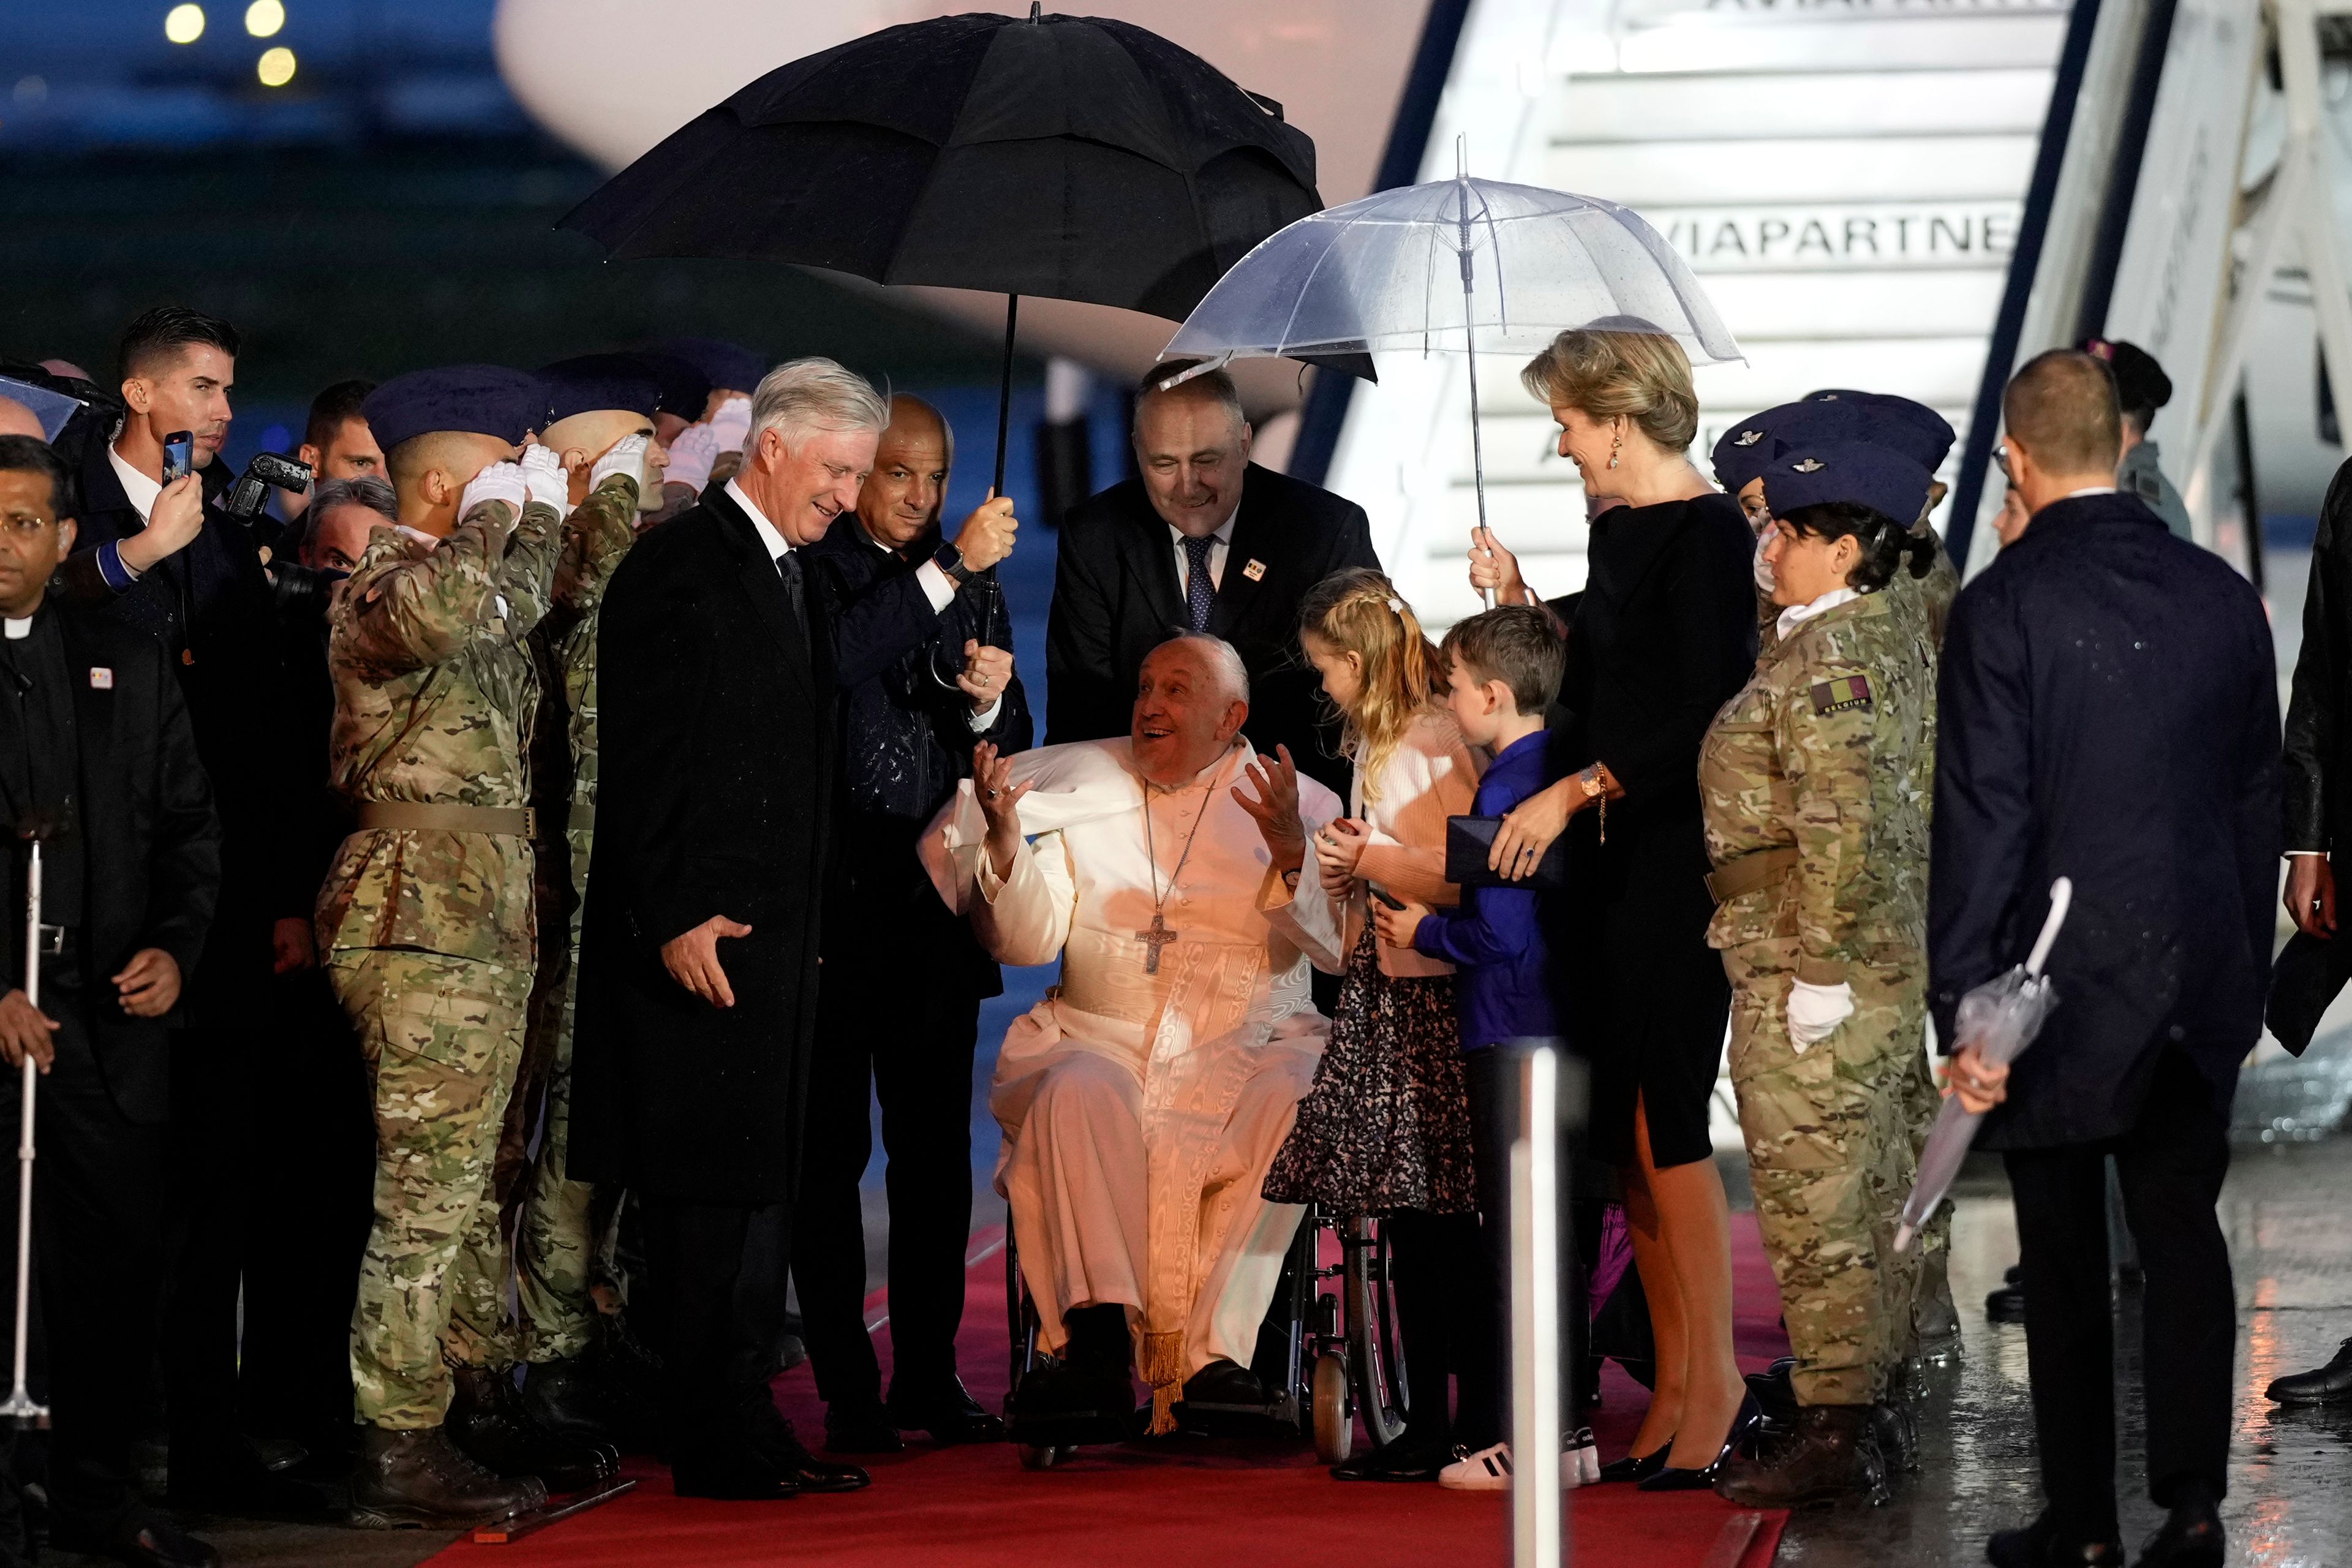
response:
<svg viewBox="0 0 2352 1568"><path fill-rule="evenodd" d="M1167 357L1470 355L1470 449L1486 527L1477 355L1534 353L1569 327L1672 336L1738 360L1698 277L1616 202L1456 176L1308 214L1258 242L1192 308Z"/></svg>

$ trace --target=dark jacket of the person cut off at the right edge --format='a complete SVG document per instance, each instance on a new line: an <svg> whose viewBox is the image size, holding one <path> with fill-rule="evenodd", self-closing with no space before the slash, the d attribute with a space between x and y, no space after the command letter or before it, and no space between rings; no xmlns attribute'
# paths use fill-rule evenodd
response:
<svg viewBox="0 0 2352 1568"><path fill-rule="evenodd" d="M2286 846L2352 849L2352 461L2319 505L2286 703Z"/></svg>

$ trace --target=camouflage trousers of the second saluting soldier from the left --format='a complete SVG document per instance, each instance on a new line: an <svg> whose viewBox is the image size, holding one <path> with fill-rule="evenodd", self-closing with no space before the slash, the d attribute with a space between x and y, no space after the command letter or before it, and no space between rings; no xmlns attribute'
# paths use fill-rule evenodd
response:
<svg viewBox="0 0 2352 1568"><path fill-rule="evenodd" d="M532 1032L548 1041L546 1112L529 1185L515 1215L515 1300L524 1361L562 1361L595 1345L597 1208L590 1182L564 1180L572 1152L572 1020L579 1011L579 947L536 1001Z"/></svg>

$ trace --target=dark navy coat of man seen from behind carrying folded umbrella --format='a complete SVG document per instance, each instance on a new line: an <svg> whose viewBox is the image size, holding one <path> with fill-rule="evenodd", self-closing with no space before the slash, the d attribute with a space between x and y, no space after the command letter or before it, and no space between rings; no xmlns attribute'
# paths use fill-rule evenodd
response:
<svg viewBox="0 0 2352 1568"><path fill-rule="evenodd" d="M1959 595L1943 642L1931 1009L2025 959L2056 877L2058 1009L1994 1150L2133 1126L2166 1046L2227 1110L2263 1027L2279 879L2279 696L2263 602L2131 496L2082 496Z"/></svg>

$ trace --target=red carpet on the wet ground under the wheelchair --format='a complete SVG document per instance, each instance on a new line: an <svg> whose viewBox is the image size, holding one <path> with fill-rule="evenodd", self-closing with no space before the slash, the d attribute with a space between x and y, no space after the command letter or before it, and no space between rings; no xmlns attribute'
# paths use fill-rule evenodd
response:
<svg viewBox="0 0 2352 1568"><path fill-rule="evenodd" d="M964 1382L981 1403L1004 1399L1004 1258L976 1237L969 1312L960 1342ZM1785 1352L1778 1293L1755 1222L1733 1215L1738 1349L1762 1368ZM870 1316L880 1314L880 1295ZM887 1335L880 1349L889 1354ZM887 1371L884 1371L887 1375ZM1616 1366L1604 1375L1595 1429L1616 1458L1639 1425L1644 1389ZM776 1380L776 1401L804 1436L823 1406L809 1368ZM670 1495L668 1472L642 1462L642 1486L508 1547L456 1544L449 1563L562 1563L644 1568L675 1563L924 1563L924 1568L1098 1568L1103 1563L1279 1563L1378 1568L1385 1563L1503 1563L1508 1500L1437 1486L1345 1486L1301 1446L1209 1443L1087 1448L1051 1472L1023 1472L1014 1450L931 1448L866 1460L873 1488L781 1505ZM1712 1493L1649 1495L1630 1486L1569 1493L1573 1561L1609 1568L1764 1568L1780 1514L1748 1516ZM1750 1535L1752 1528L1752 1535ZM1738 1540L1748 1540L1738 1549Z"/></svg>

